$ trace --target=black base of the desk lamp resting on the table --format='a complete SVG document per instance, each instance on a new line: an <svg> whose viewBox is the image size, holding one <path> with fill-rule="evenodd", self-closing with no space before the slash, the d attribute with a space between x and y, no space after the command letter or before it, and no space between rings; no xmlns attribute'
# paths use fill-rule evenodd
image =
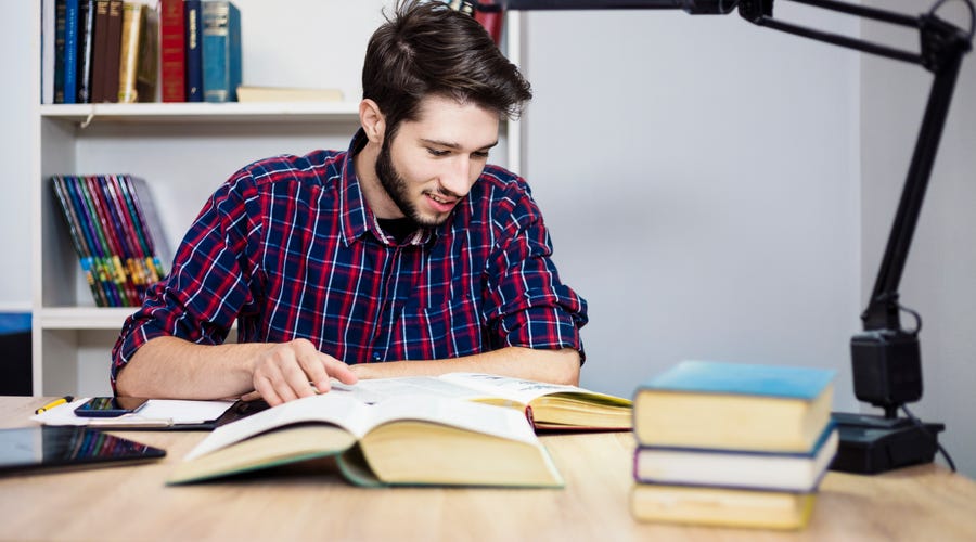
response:
<svg viewBox="0 0 976 542"><path fill-rule="evenodd" d="M894 468L932 463L938 451L938 434L945 424L915 425L907 417L868 414L831 414L840 437L831 470L877 474Z"/></svg>

